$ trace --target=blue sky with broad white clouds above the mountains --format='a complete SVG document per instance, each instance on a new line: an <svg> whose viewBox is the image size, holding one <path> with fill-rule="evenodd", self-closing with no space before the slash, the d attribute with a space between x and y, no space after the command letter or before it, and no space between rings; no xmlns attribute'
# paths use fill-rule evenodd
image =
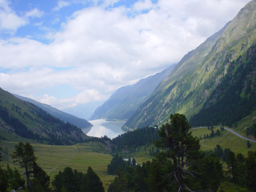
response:
<svg viewBox="0 0 256 192"><path fill-rule="evenodd" d="M178 63L250 0L0 0L0 87L63 109Z"/></svg>

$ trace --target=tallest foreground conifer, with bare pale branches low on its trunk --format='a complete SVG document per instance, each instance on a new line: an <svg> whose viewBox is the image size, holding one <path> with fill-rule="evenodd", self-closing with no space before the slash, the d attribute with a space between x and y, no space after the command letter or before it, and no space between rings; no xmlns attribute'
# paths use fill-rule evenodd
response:
<svg viewBox="0 0 256 192"><path fill-rule="evenodd" d="M186 176L194 175L189 168L201 158L199 139L188 132L190 128L183 114L171 114L170 123L167 122L158 130L161 139L154 141L156 147L167 149L166 155L173 161L174 168L170 174L175 182L170 184L176 183L178 192L189 189Z"/></svg>

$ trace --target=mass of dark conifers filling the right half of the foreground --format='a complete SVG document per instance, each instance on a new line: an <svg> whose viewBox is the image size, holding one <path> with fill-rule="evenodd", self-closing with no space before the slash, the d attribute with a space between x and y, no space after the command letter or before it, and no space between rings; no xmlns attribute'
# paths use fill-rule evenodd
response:
<svg viewBox="0 0 256 192"><path fill-rule="evenodd" d="M116 168L117 176L108 192L216 192L224 180L256 191L256 152L235 156L220 145L202 152L199 139L189 129L184 115L171 115L170 123L158 131L160 139L154 141L161 152L142 166ZM227 171L220 160L226 162Z"/></svg>

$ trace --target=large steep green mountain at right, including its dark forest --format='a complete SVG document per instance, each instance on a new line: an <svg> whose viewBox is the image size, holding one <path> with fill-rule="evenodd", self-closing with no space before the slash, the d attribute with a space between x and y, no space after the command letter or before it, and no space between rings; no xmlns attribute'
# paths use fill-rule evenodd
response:
<svg viewBox="0 0 256 192"><path fill-rule="evenodd" d="M188 52L123 129L161 125L172 113L193 126L232 126L256 108L256 0Z"/></svg>

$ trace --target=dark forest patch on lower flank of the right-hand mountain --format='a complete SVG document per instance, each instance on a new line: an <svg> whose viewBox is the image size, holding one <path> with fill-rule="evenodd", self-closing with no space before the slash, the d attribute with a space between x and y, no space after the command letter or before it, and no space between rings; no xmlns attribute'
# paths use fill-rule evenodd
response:
<svg viewBox="0 0 256 192"><path fill-rule="evenodd" d="M222 124L232 127L256 108L256 45L230 62L226 75L204 103L198 114L190 118L192 126ZM229 57L226 57L226 64ZM238 68L235 68L238 66Z"/></svg>

